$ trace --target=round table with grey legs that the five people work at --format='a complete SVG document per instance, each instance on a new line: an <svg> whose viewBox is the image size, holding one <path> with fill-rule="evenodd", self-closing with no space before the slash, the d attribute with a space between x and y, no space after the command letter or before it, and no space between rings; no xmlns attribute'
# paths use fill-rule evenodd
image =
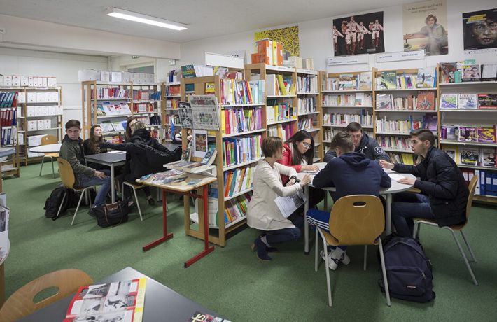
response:
<svg viewBox="0 0 497 322"><path fill-rule="evenodd" d="M323 163L324 162L321 162L321 163L318 163L316 165L318 165L318 167L320 169L323 169ZM325 163L324 163L324 165L325 165ZM388 173L396 173L396 172L388 170ZM300 172L297 174L297 178L302 179L302 177L305 174L309 174L309 173ZM416 177L412 174L400 174L400 175L406 176L407 178L416 179ZM304 187L304 193L305 193L305 197L306 197L306 202L304 205L304 219L305 219L304 220L304 240L305 240L304 253L306 253L306 254L309 254L309 223L307 223L307 211L309 210L309 186L314 187L314 186L312 186L312 183L309 183L309 185ZM390 188L380 188L379 194L384 195L386 198L386 209L385 209L385 233L386 233L386 235L390 235L392 232L392 228L391 228L392 194L393 193L401 193L402 191L410 190L412 187L413 187L412 185L405 185L402 183L398 183L395 180L392 180L392 186ZM335 188L335 187L326 187L326 188L321 188L321 189L326 190L326 191L336 191L337 190L337 188ZM326 196L325 196L325 198L326 198Z"/></svg>

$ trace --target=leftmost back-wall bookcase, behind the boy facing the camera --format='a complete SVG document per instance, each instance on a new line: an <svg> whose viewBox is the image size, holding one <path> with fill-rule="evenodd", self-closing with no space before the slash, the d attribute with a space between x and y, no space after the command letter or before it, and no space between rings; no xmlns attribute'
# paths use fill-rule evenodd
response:
<svg viewBox="0 0 497 322"><path fill-rule="evenodd" d="M323 144L330 144L336 131L343 131L351 122L360 123L363 131L373 136L374 69L321 74L323 110ZM323 153L327 149L323 149Z"/></svg>

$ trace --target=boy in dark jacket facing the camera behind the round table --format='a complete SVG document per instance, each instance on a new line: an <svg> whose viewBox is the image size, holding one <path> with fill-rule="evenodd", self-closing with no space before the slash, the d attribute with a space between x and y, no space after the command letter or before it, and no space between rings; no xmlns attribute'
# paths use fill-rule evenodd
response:
<svg viewBox="0 0 497 322"><path fill-rule="evenodd" d="M390 161L388 155L383 151L383 148L379 146L378 142L371 139L367 134L363 132L363 127L357 122L351 122L346 127L346 132L349 133L353 141L354 152L362 153L366 158L371 160L386 160ZM332 158L335 158L337 154L333 149L328 151L323 160L328 163Z"/></svg>

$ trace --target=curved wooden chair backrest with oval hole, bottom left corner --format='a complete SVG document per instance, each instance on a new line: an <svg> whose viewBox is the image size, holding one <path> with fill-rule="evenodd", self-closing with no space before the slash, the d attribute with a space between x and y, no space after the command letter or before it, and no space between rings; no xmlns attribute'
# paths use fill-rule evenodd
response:
<svg viewBox="0 0 497 322"><path fill-rule="evenodd" d="M10 322L27 316L42 307L75 293L80 286L91 285L93 280L80 269L62 269L45 274L30 281L10 295L0 309L1 321ZM47 288L58 288L57 293L40 302L34 302L34 297Z"/></svg>

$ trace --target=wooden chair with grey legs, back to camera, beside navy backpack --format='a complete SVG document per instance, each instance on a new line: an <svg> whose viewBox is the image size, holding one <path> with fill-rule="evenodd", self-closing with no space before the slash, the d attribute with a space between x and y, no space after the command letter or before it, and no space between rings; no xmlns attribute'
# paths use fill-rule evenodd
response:
<svg viewBox="0 0 497 322"><path fill-rule="evenodd" d="M328 286L328 305L332 306L330 269L328 269L329 246L365 245L364 269L366 269L367 245L379 245L381 271L385 284L386 304L391 305L388 281L386 279L381 232L385 230L385 213L379 197L373 195L349 195L340 198L333 204L330 214L329 229L332 234L316 227L316 260L314 269L318 271L318 234L324 246L326 264L326 281Z"/></svg>

